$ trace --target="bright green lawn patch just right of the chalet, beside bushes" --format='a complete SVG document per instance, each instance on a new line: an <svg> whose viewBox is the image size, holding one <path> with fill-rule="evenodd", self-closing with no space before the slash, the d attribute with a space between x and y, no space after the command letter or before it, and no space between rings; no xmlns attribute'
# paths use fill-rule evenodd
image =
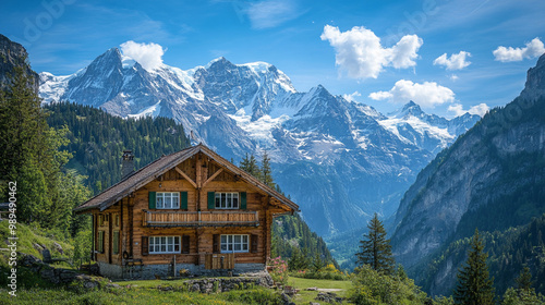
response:
<svg viewBox="0 0 545 305"><path fill-rule="evenodd" d="M334 291L338 296L348 296L348 291L352 288L351 281L335 281L335 280L315 280L315 279L301 279L291 277L288 284L299 289L300 292L293 302L295 304L308 304L308 302L317 302L315 298L318 295L317 291L305 291L307 288L318 289L341 289L342 291ZM318 302L319 303L319 302Z"/></svg>

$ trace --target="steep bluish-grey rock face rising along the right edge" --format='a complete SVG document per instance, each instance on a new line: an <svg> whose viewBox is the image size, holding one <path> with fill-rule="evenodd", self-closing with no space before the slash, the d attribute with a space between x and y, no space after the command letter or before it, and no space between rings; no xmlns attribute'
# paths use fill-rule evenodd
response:
<svg viewBox="0 0 545 305"><path fill-rule="evenodd" d="M519 98L492 110L420 172L396 213L391 242L399 263L413 266L476 227L499 230L538 216L526 216L505 198L543 188L544 109L545 54L528 72ZM529 205L524 208L543 212L543 205ZM494 220L485 217L491 215Z"/></svg>

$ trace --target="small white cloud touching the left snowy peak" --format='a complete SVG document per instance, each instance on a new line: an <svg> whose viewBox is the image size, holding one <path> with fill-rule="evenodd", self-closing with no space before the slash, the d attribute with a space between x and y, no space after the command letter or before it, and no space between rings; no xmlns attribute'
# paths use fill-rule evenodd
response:
<svg viewBox="0 0 545 305"><path fill-rule="evenodd" d="M121 52L138 62L142 68L152 71L162 63L165 50L161 46L150 44L138 44L133 40L121 44Z"/></svg>

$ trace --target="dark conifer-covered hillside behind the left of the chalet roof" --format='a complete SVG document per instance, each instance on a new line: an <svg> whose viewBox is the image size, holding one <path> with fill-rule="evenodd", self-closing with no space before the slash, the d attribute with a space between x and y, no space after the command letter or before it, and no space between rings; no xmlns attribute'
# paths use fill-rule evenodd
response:
<svg viewBox="0 0 545 305"><path fill-rule="evenodd" d="M121 155L133 150L135 169L190 146L183 126L171 119L124 120L102 110L76 103L45 107L47 122L53 129L68 126L70 141L63 149L73 154L68 168L88 176L86 185L94 194L121 180Z"/></svg>

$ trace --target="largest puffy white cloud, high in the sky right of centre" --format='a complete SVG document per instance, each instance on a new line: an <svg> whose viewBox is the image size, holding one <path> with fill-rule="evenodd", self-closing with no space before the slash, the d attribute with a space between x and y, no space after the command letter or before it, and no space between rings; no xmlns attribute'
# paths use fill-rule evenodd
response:
<svg viewBox="0 0 545 305"><path fill-rule="evenodd" d="M403 36L393 47L384 48L373 30L354 26L347 32L326 25L320 36L335 48L335 63L352 78L377 78L384 66L415 66L416 53L423 44L416 35Z"/></svg>

